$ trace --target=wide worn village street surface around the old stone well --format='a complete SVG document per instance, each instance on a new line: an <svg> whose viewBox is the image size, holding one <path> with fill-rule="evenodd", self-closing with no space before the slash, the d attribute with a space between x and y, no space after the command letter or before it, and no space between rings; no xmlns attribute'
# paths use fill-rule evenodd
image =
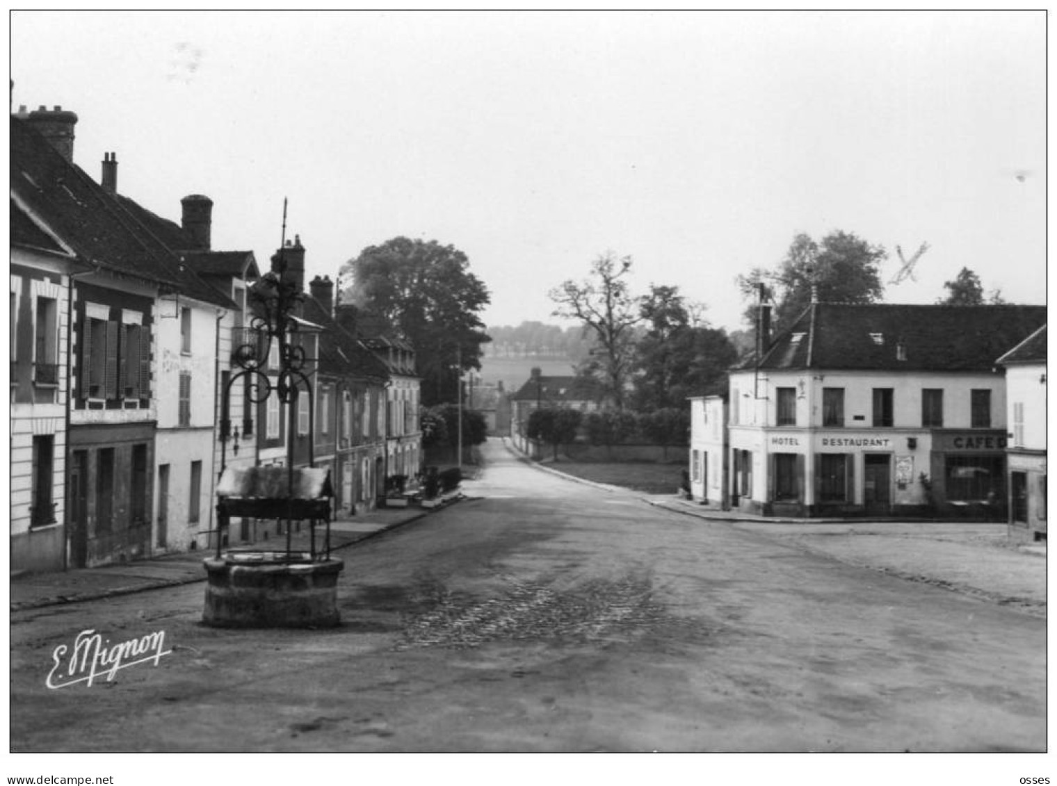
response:
<svg viewBox="0 0 1057 786"><path fill-rule="evenodd" d="M201 624L203 585L15 612L15 751L1040 751L1045 620L542 472L344 549L342 624ZM94 629L164 632L45 687Z"/></svg>

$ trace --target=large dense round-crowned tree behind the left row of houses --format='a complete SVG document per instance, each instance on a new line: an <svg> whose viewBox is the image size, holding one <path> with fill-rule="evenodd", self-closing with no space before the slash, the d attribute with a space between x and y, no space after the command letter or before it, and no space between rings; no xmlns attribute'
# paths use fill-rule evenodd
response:
<svg viewBox="0 0 1057 786"><path fill-rule="evenodd" d="M341 273L353 277L342 300L411 342L425 406L450 400L460 375L481 368L481 345L490 339L479 313L490 297L465 254L435 240L393 238L365 248Z"/></svg>

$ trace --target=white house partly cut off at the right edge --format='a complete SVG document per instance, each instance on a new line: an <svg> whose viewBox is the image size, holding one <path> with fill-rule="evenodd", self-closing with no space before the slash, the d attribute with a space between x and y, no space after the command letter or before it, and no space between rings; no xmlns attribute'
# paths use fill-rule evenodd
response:
<svg viewBox="0 0 1057 786"><path fill-rule="evenodd" d="M1046 326L996 361L1005 368L1009 535L1046 538Z"/></svg>

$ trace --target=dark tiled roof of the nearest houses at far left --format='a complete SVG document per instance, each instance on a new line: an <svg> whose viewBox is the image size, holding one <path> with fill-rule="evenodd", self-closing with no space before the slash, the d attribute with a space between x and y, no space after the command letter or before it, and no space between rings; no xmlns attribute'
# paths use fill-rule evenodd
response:
<svg viewBox="0 0 1057 786"><path fill-rule="evenodd" d="M130 210L131 200L114 199L29 124L14 116L10 153L12 191L84 261L235 307L230 299L185 266L171 247L144 224L142 212L149 211Z"/></svg>

